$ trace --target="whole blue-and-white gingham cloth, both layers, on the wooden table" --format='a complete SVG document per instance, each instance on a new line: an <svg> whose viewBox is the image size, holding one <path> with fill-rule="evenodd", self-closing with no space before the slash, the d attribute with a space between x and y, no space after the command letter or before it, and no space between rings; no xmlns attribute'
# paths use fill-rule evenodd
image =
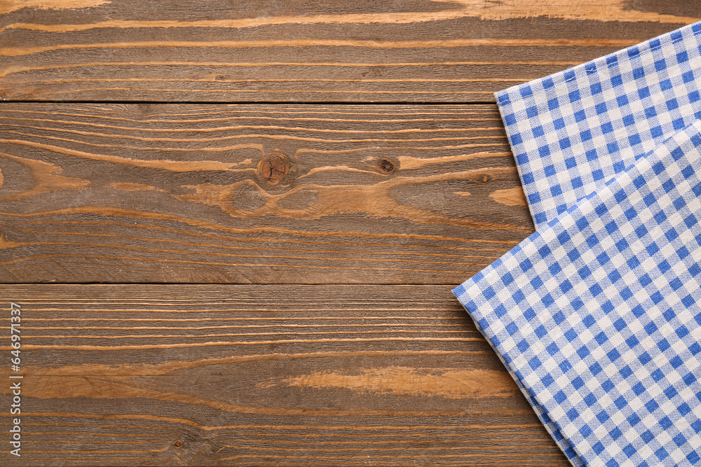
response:
<svg viewBox="0 0 701 467"><path fill-rule="evenodd" d="M454 293L576 466L701 464L700 33L497 93L538 231Z"/></svg>

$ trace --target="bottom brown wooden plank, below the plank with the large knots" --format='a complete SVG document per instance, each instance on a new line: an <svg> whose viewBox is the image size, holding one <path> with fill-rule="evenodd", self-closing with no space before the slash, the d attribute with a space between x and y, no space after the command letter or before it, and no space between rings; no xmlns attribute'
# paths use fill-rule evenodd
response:
<svg viewBox="0 0 701 467"><path fill-rule="evenodd" d="M0 296L4 330L22 310L22 459L2 449L6 466L569 465L449 286Z"/></svg>

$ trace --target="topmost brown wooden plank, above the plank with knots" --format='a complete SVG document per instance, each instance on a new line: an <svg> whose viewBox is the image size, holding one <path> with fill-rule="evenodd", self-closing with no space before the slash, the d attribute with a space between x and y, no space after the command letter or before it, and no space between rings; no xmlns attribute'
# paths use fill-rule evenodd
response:
<svg viewBox="0 0 701 467"><path fill-rule="evenodd" d="M701 19L688 0L6 0L0 98L492 102Z"/></svg>

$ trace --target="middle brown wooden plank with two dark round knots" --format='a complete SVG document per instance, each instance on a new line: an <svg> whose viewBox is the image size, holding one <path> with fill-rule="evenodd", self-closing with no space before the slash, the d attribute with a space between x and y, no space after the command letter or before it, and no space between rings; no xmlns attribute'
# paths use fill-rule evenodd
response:
<svg viewBox="0 0 701 467"><path fill-rule="evenodd" d="M491 105L4 104L0 281L459 284L533 232Z"/></svg>

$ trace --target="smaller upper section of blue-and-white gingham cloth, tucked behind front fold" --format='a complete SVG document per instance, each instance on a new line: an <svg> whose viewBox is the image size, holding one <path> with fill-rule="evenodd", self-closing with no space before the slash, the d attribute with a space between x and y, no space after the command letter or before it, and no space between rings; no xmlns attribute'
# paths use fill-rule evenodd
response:
<svg viewBox="0 0 701 467"><path fill-rule="evenodd" d="M701 118L701 22L497 92L536 228Z"/></svg>

